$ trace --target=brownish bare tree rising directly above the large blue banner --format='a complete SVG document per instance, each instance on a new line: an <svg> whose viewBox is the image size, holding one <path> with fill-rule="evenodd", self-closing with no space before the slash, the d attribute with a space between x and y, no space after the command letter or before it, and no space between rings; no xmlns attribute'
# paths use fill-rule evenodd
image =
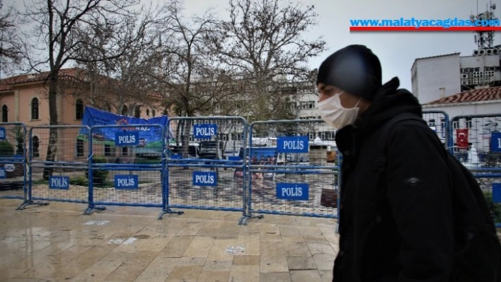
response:
<svg viewBox="0 0 501 282"><path fill-rule="evenodd" d="M124 47L125 52L120 57L104 61L98 60L100 54L96 54L91 46L104 49L111 37L100 30L83 30L79 35L81 39L93 44L77 50L77 54L93 60L79 62L79 66L88 72L90 89L83 89L77 95L85 96L95 107L105 110L115 108L117 114L132 115L135 107L148 105L149 101L145 98L154 90L155 83L149 74L158 65L160 54L161 42L156 30L160 16L158 7L143 6L140 16L122 23L115 30L109 30L110 33L122 33L122 36L136 40L120 42L129 45L126 49Z"/></svg>

